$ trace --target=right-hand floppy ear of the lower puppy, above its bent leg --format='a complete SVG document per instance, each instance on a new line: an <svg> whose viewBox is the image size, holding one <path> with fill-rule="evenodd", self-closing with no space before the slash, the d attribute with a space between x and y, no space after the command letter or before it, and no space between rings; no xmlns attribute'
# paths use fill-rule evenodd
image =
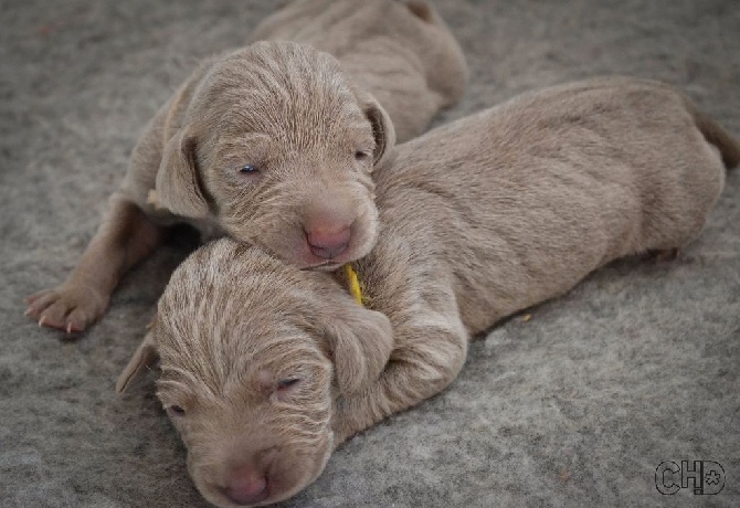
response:
<svg viewBox="0 0 740 508"><path fill-rule="evenodd" d="M383 371L393 350L393 329L384 314L359 305L342 311L325 331L339 391L348 395L376 381Z"/></svg>

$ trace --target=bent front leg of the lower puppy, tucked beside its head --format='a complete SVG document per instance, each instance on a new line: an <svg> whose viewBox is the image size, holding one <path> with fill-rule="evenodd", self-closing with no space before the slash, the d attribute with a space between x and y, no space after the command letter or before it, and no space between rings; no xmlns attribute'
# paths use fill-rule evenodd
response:
<svg viewBox="0 0 740 508"><path fill-rule="evenodd" d="M373 384L336 402L335 445L441 392L465 362L469 337L452 289L437 295L425 292L423 300L421 296L414 298L416 301L401 299L404 307L398 307L399 300L392 304L405 310L391 316L397 346L385 370ZM429 301L434 301L437 310Z"/></svg>

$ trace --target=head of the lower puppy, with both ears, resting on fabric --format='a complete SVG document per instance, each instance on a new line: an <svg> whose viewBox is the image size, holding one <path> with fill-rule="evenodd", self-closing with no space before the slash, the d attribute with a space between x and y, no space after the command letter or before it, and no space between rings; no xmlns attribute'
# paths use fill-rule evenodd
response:
<svg viewBox="0 0 740 508"><path fill-rule="evenodd" d="M118 388L158 352L158 396L198 489L216 506L258 506L318 477L335 399L377 379L391 348L388 319L330 275L224 239L175 272Z"/></svg>

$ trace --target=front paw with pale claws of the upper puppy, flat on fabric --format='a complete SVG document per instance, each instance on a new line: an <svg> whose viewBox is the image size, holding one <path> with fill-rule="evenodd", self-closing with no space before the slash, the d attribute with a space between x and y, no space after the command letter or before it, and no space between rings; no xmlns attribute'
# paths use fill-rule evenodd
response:
<svg viewBox="0 0 740 508"><path fill-rule="evenodd" d="M109 295L81 284L63 284L44 289L27 298L27 316L39 326L57 328L67 334L83 331L99 318L108 307Z"/></svg>

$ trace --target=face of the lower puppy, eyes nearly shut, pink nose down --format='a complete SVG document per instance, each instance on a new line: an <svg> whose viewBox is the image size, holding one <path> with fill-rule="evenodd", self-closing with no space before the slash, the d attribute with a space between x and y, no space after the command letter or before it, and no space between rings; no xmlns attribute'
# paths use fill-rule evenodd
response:
<svg viewBox="0 0 740 508"><path fill-rule="evenodd" d="M187 358L179 348L192 348L204 330L182 336L168 320L155 329L162 351L157 395L201 494L216 506L262 505L314 481L332 449L332 398L331 364L310 335L294 324L266 330L245 319L197 340L214 343ZM261 345L267 332L273 340Z"/></svg>

